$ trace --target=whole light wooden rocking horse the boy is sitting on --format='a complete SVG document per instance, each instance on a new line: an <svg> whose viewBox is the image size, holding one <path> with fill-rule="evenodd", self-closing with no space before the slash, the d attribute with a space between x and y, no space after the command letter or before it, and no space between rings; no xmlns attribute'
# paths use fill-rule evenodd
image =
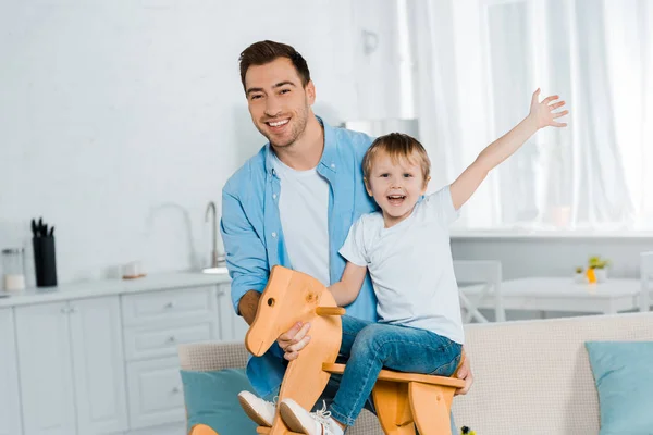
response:
<svg viewBox="0 0 653 435"><path fill-rule="evenodd" d="M310 345L286 369L279 401L292 398L310 410L324 390L331 374L342 374L345 364L335 364L342 340L341 315L333 296L319 281L300 272L274 266L261 295L256 319L245 337L254 356L262 356L278 337L297 322L310 323ZM460 363L463 362L463 359ZM451 435L449 410L454 391L465 386L456 377L431 376L382 370L372 398L385 434ZM196 431L197 430L197 431ZM192 435L213 435L196 426ZM259 426L259 434L291 432L279 409L272 427Z"/></svg>

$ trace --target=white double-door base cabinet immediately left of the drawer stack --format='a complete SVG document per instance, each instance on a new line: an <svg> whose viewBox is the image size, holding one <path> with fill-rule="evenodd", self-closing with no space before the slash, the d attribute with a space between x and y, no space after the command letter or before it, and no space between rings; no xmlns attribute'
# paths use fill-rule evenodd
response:
<svg viewBox="0 0 653 435"><path fill-rule="evenodd" d="M127 428L118 297L15 309L25 435Z"/></svg>

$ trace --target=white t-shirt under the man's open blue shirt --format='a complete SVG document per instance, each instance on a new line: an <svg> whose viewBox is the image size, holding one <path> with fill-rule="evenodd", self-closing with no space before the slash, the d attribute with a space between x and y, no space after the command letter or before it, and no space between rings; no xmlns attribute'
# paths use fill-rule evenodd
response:
<svg viewBox="0 0 653 435"><path fill-rule="evenodd" d="M317 167L295 171L276 156L272 166L281 179L279 215L293 269L329 286L329 182Z"/></svg>

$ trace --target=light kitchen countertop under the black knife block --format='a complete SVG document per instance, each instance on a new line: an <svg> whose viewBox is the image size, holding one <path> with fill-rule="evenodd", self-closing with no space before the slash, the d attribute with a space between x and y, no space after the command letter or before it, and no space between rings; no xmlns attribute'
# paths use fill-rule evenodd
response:
<svg viewBox="0 0 653 435"><path fill-rule="evenodd" d="M22 291L0 291L0 308L56 302L101 296L131 295L172 288L200 287L227 284L229 274L201 272L173 272L147 275L137 279L102 279L62 284L57 287L27 288Z"/></svg>

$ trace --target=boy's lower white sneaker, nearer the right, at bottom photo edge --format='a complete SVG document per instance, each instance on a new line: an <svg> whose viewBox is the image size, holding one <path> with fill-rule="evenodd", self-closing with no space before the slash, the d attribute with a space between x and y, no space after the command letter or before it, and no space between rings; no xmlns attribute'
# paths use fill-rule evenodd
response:
<svg viewBox="0 0 653 435"><path fill-rule="evenodd" d="M344 431L326 411L326 403L317 412L308 412L293 399L284 399L279 408L288 428L306 435L343 435Z"/></svg>

